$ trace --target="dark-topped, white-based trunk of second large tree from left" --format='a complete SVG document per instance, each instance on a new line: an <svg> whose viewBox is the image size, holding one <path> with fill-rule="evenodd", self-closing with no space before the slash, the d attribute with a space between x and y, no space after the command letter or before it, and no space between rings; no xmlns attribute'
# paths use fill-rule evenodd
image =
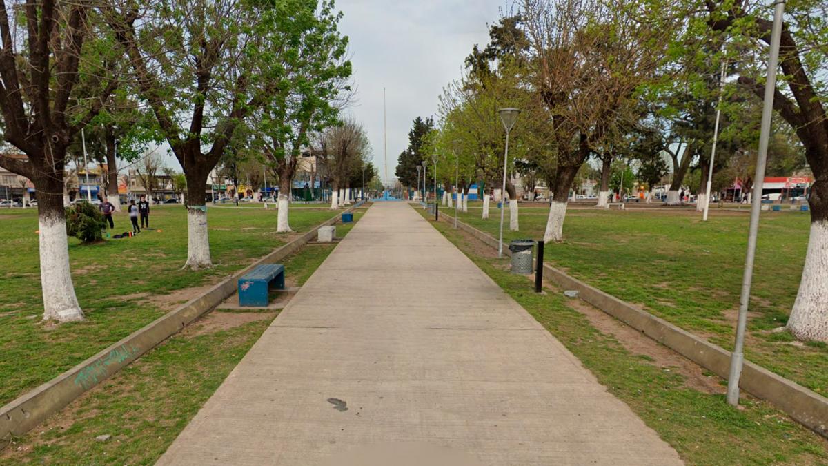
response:
<svg viewBox="0 0 828 466"><path fill-rule="evenodd" d="M187 178L187 262L185 268L209 269L213 261L209 254L207 234L207 173L190 169L184 173Z"/></svg>

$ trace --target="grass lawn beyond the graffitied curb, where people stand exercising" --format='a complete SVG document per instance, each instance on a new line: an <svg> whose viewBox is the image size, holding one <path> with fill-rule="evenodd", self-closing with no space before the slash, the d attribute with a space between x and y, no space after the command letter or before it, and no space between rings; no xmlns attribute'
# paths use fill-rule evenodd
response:
<svg viewBox="0 0 828 466"><path fill-rule="evenodd" d="M299 232L335 215L325 206L302 207L290 211L291 227ZM96 245L70 238L75 292L86 320L54 326L41 323L36 211L0 211L0 405L296 237L277 234L276 217L277 211L261 208L209 208L214 268L198 272L181 269L187 253L183 206L153 207L153 230L133 238ZM131 230L128 225L126 214L116 215L115 232Z"/></svg>

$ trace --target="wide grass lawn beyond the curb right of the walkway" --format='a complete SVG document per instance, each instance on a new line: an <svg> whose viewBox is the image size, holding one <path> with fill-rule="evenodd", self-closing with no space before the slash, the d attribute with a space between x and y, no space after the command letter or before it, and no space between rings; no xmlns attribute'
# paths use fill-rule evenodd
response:
<svg viewBox="0 0 828 466"><path fill-rule="evenodd" d="M450 210L453 213L453 209ZM499 213L480 219L480 203L460 220L498 236ZM520 231L504 241L541 239L548 208L520 208ZM749 215L710 210L570 209L564 241L547 244L544 260L572 276L667 319L725 349L733 347ZM763 212L759 227L746 357L828 395L828 345L795 342L774 332L797 297L808 240L806 212Z"/></svg>

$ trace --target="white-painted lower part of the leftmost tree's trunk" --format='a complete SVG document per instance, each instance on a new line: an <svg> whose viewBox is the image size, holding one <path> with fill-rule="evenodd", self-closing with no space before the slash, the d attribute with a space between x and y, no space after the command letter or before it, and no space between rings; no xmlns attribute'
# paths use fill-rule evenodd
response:
<svg viewBox="0 0 828 466"><path fill-rule="evenodd" d="M41 289L43 320L77 322L84 320L75 297L75 286L69 269L69 242L66 221L62 216L38 217L40 226Z"/></svg>

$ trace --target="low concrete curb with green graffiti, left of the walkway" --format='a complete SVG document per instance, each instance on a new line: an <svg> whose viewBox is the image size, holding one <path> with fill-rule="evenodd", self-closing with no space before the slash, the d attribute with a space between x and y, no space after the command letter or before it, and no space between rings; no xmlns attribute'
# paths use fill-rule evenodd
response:
<svg viewBox="0 0 828 466"><path fill-rule="evenodd" d="M123 366L135 361L166 338L185 328L196 318L200 318L215 308L236 290L238 277L257 265L272 264L291 255L308 241L315 239L316 230L320 226L334 225L340 220L343 212L354 211L359 206L362 206L362 201L344 211L337 212L336 216L330 220L315 226L296 240L256 260L247 268L232 274L200 297L182 304L176 310L157 318L154 322L124 337L93 357L89 357L60 376L2 406L0 408L0 439L7 438L9 434L22 435L33 429L46 418L63 409L65 405L69 405L85 391L106 380Z"/></svg>

